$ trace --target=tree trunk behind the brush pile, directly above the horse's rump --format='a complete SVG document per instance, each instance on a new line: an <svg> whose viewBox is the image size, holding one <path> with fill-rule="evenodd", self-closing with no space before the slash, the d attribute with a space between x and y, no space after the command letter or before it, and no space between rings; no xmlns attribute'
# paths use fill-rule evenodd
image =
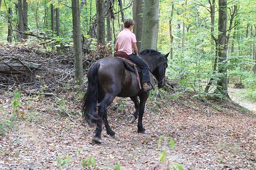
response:
<svg viewBox="0 0 256 170"><path fill-rule="evenodd" d="M105 15L103 10L103 1L96 0L97 12L97 42L105 45Z"/></svg>

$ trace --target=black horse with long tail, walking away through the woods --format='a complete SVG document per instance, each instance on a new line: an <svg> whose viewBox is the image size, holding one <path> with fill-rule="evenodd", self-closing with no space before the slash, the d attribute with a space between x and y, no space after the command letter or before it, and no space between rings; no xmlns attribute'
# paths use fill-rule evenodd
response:
<svg viewBox="0 0 256 170"><path fill-rule="evenodd" d="M151 84L154 84L155 77L159 88L165 85L168 55L169 53L163 55L156 50L149 49L140 52L140 57L148 64ZM135 113L131 115L131 119L135 121L139 115L137 132L145 133L142 119L149 91L143 92L139 88L135 74L125 68L122 59L108 57L98 60L90 67L87 77L88 87L84 95L82 110L84 121L87 121L90 125L96 124L96 135L93 136L94 142L102 142L102 120L105 123L107 134L110 136L115 135L115 132L108 125L106 108L116 96L131 98L136 108ZM140 97L140 102L138 101L138 96ZM97 102L98 113L96 113Z"/></svg>

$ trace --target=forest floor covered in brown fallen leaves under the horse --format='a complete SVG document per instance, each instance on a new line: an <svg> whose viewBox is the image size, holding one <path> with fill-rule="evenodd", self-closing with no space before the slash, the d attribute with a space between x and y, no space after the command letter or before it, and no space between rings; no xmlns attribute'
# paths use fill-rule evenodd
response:
<svg viewBox="0 0 256 170"><path fill-rule="evenodd" d="M81 97L79 91L46 98L22 95L15 126L0 136L0 170L81 170L89 156L96 166L84 169L113 170L117 163L122 170L158 169L164 149L169 164L187 170L256 169L256 114L233 102L202 101L192 94L170 95L158 104L148 100L143 117L148 134L138 134L137 124L126 120L133 103L117 98L108 110L117 137L104 128L103 143L93 144L95 128L82 123ZM2 125L13 115L12 101L13 94L0 94ZM165 138L158 142L161 135ZM169 138L175 141L172 150Z"/></svg>

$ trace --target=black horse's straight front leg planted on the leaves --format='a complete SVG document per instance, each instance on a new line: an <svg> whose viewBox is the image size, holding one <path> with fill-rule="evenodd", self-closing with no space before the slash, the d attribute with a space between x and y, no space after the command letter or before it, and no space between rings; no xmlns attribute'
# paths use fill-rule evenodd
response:
<svg viewBox="0 0 256 170"><path fill-rule="evenodd" d="M146 104L146 101L148 99L148 95L149 95L149 92L143 93L140 96L140 111L139 111L138 130L137 130L138 133L145 133L145 131L146 131L145 128L143 127L143 125L142 125L142 119L143 119L145 104Z"/></svg>

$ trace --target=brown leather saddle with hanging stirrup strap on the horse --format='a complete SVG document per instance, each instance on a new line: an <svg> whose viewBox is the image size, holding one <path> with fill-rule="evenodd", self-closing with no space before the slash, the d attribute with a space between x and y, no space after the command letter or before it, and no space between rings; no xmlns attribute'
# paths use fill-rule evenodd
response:
<svg viewBox="0 0 256 170"><path fill-rule="evenodd" d="M114 57L118 57L118 58L122 59L126 68L129 71L135 72L135 75L136 75L136 78L138 80L138 84L139 84L139 87L140 87L140 90L141 90L140 75L139 75L140 70L138 71L139 67L137 68L137 65L134 62L131 62L130 57L125 52L117 51L117 52L114 53ZM131 69L131 67L134 68L134 69Z"/></svg>

